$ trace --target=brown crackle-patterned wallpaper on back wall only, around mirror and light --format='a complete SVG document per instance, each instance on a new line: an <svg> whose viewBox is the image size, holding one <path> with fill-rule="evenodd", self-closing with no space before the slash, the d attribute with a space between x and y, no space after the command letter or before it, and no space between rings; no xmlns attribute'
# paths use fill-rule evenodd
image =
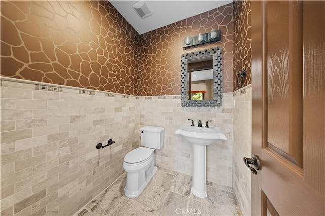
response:
<svg viewBox="0 0 325 216"><path fill-rule="evenodd" d="M183 49L183 39L212 29L221 40ZM140 35L141 96L180 94L181 55L220 46L223 52L222 91L233 91L233 5L228 4Z"/></svg>

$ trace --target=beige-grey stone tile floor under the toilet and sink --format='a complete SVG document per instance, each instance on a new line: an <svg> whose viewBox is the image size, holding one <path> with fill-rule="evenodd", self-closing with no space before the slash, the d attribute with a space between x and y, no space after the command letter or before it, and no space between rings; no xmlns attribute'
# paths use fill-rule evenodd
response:
<svg viewBox="0 0 325 216"><path fill-rule="evenodd" d="M136 198L124 195L126 173L76 215L241 215L234 193L207 186L207 198L195 197L192 177L158 168Z"/></svg>

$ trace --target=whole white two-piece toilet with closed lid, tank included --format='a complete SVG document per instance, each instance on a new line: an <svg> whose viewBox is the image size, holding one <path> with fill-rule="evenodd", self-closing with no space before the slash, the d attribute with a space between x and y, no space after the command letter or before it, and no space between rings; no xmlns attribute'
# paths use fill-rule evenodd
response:
<svg viewBox="0 0 325 216"><path fill-rule="evenodd" d="M157 171L155 166L155 149L164 146L164 128L144 126L140 129L141 146L124 157L123 168L127 173L124 194L138 197Z"/></svg>

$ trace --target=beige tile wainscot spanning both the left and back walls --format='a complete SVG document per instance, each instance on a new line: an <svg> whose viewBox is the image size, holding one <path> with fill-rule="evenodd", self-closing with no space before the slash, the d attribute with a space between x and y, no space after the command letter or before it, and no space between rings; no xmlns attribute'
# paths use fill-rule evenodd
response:
<svg viewBox="0 0 325 216"><path fill-rule="evenodd" d="M220 108L181 107L180 96L134 97L2 78L1 215L69 215L123 172L144 125L165 128L156 164L192 173L192 145L174 134L181 124L213 120L228 141L207 147L207 181L231 190L232 93ZM24 82L24 83L21 83ZM85 94L83 94L85 93ZM98 150L96 144L116 143ZM217 157L216 157L217 155Z"/></svg>

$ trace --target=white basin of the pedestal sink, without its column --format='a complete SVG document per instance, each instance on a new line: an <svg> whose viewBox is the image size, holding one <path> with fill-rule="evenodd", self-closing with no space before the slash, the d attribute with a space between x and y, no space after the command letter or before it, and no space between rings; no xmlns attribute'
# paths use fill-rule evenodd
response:
<svg viewBox="0 0 325 216"><path fill-rule="evenodd" d="M218 139L228 140L219 127L182 125L175 133L181 134L187 141L201 146L210 145Z"/></svg>

